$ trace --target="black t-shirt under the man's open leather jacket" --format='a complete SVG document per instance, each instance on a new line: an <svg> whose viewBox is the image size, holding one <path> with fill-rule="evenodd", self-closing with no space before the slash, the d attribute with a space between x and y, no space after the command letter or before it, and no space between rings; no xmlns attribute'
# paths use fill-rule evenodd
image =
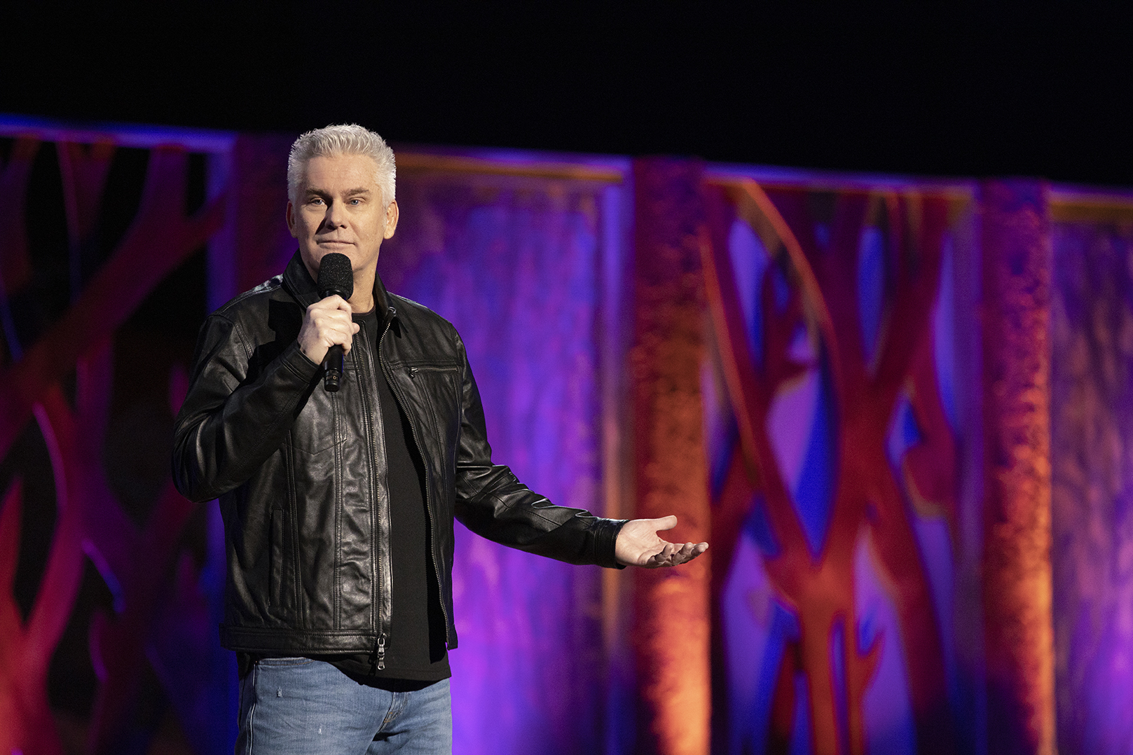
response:
<svg viewBox="0 0 1133 755"><path fill-rule="evenodd" d="M376 670L373 654L324 658L363 684L390 680L438 681L452 676L445 646L444 614L433 565L425 469L412 428L390 389L377 352L378 320L374 310L355 315L374 350L377 403L385 436L386 487L390 492L390 549L393 576L393 626L385 642L385 668ZM360 335L360 333L359 333ZM355 348L363 345L355 336ZM360 361L358 357L357 361ZM357 363L356 361L356 363ZM397 685L394 685L397 686Z"/></svg>

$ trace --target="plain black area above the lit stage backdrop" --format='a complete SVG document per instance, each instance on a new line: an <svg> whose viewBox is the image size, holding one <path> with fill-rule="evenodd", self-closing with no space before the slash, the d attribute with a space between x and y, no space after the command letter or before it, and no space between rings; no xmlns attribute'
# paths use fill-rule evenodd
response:
<svg viewBox="0 0 1133 755"><path fill-rule="evenodd" d="M1133 186L1133 15L987 3L6 11L0 112Z"/></svg>

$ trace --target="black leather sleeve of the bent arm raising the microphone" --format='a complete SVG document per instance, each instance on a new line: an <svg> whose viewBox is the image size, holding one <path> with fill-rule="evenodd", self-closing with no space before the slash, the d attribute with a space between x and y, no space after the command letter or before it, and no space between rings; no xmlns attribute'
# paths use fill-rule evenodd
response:
<svg viewBox="0 0 1133 755"><path fill-rule="evenodd" d="M254 344L213 314L201 328L189 391L173 430L173 483L205 501L237 488L283 443L318 374L291 343L249 375Z"/></svg>

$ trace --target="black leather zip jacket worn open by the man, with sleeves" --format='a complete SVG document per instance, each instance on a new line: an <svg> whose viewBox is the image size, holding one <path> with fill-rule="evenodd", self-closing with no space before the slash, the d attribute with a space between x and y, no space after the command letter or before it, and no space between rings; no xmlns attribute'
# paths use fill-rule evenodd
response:
<svg viewBox="0 0 1133 755"><path fill-rule="evenodd" d="M177 489L195 501L220 498L225 647L308 655L384 646L397 617L375 369L385 371L424 460L450 647L454 516L521 550L616 566L622 522L553 506L492 463L479 392L448 320L376 281L382 364L364 328L341 388L327 393L321 367L296 342L318 298L296 254L283 275L210 315L177 417Z"/></svg>

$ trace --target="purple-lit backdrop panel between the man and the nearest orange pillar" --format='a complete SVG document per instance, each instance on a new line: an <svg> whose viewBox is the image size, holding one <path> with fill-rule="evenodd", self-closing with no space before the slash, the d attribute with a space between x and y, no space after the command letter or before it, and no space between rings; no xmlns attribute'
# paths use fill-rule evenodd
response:
<svg viewBox="0 0 1133 755"><path fill-rule="evenodd" d="M378 269L451 319L497 463L600 513L600 185L400 177ZM600 576L457 527L454 747L580 753L600 739Z"/></svg>

